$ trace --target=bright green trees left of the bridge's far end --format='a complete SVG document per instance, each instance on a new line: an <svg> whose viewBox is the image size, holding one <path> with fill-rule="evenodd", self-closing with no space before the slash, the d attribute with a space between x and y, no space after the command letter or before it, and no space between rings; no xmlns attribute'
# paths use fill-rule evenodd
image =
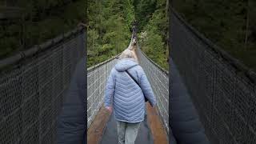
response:
<svg viewBox="0 0 256 144"><path fill-rule="evenodd" d="M89 1L89 30L94 41L88 43L87 67L105 61L126 49L130 42L130 22L134 21L132 1ZM93 35L97 35L94 37ZM94 56L93 56L94 55Z"/></svg>

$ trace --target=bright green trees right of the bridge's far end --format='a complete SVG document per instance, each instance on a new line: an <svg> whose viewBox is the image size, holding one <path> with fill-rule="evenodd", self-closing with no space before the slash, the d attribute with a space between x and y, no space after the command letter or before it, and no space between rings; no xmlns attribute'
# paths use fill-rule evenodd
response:
<svg viewBox="0 0 256 144"><path fill-rule="evenodd" d="M142 27L142 32L140 36L140 44L142 45L142 50L146 55L151 58L154 62L158 63L159 66L168 70L169 65L167 62L166 54L168 53L167 46L167 14L166 14L166 1L158 0L155 1L155 10L150 15L148 22L146 18L142 21L146 22L146 25Z"/></svg>

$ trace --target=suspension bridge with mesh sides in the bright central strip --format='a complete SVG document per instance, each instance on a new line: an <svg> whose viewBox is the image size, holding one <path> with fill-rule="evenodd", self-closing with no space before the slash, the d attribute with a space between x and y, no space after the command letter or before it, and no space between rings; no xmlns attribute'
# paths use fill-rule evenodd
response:
<svg viewBox="0 0 256 144"><path fill-rule="evenodd" d="M136 42L136 48L131 49L132 43ZM158 64L150 60L140 50L138 40L133 30L129 50L134 50L138 63L150 81L154 94L157 98L157 109L146 106L146 120L142 123L136 142L142 143L167 143L169 134L169 76ZM118 62L118 57L110 58L87 70L87 127L88 144L90 143L118 143L117 128L113 114L104 113L102 107L106 80L110 71ZM100 114L100 116L97 116ZM102 139L100 139L102 138Z"/></svg>

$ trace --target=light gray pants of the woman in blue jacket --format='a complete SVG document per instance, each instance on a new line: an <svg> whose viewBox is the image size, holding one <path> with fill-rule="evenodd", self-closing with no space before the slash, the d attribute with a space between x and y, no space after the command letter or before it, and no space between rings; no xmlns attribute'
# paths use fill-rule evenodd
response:
<svg viewBox="0 0 256 144"><path fill-rule="evenodd" d="M141 122L130 123L121 122L118 123L118 144L134 144L137 138L138 128Z"/></svg>

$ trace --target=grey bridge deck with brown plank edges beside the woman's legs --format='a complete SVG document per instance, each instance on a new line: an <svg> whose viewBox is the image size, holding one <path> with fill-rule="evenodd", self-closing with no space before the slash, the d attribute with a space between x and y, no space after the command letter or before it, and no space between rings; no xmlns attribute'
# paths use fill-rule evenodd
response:
<svg viewBox="0 0 256 144"><path fill-rule="evenodd" d="M148 103L146 104L146 110L147 114L144 122L142 122L139 128L138 137L135 143L167 144L167 135L157 110L150 107ZM109 114L102 107L88 130L87 143L118 143L117 133L114 115Z"/></svg>

